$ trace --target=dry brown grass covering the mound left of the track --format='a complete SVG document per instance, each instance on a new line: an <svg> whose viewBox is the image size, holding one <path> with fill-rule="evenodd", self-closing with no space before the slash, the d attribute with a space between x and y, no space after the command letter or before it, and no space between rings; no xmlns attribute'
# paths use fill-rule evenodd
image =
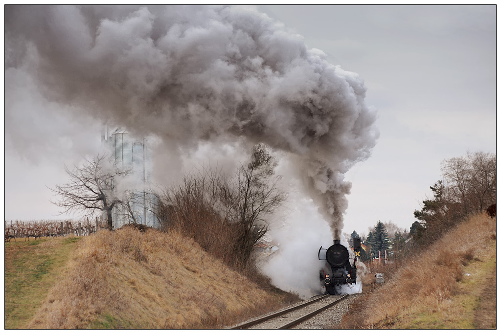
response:
<svg viewBox="0 0 501 334"><path fill-rule="evenodd" d="M220 327L274 299L175 231L88 236L62 277L32 328Z"/></svg>

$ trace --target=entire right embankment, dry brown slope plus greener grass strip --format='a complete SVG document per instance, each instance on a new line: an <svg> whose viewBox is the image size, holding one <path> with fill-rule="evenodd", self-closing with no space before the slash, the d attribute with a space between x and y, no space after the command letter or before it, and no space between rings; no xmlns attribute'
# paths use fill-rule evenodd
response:
<svg viewBox="0 0 501 334"><path fill-rule="evenodd" d="M471 217L364 294L344 328L496 328L496 220Z"/></svg>

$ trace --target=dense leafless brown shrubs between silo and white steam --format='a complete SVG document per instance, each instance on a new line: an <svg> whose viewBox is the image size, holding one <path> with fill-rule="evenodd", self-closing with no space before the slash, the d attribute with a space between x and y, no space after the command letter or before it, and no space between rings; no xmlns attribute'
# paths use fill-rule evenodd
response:
<svg viewBox="0 0 501 334"><path fill-rule="evenodd" d="M254 246L286 198L273 176L276 165L267 147L257 145L233 177L210 168L185 174L159 195L162 229L181 231L225 263L255 271Z"/></svg>

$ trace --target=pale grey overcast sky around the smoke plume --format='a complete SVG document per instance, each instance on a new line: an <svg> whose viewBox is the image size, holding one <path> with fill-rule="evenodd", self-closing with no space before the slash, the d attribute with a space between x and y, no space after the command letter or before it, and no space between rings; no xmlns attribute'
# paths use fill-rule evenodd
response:
<svg viewBox="0 0 501 334"><path fill-rule="evenodd" d="M413 211L440 179L442 160L467 150L496 152L495 6L258 9L324 51L330 63L358 73L366 103L378 111L372 155L346 174L352 189L344 232L367 233L378 220L409 229ZM10 99L16 110L32 108L27 100L37 94L25 80L26 90ZM19 131L16 141L6 137L7 220L55 218L47 186L66 180L64 163L99 147L96 120L79 119L79 129L90 129L82 134L52 107L6 113L6 128Z"/></svg>

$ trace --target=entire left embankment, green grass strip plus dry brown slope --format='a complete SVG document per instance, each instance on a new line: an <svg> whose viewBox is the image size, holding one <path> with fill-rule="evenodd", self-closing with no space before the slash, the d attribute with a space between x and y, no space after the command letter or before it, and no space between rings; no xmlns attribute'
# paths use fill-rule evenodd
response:
<svg viewBox="0 0 501 334"><path fill-rule="evenodd" d="M291 298L176 232L75 240L6 243L6 328L218 328Z"/></svg>

